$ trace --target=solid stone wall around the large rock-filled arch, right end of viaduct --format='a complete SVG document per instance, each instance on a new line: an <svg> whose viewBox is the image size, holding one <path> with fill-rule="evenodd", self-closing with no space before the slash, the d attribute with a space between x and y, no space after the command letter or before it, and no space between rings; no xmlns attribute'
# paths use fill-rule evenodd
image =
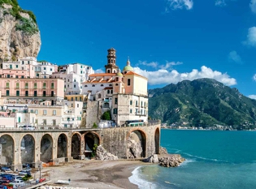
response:
<svg viewBox="0 0 256 189"><path fill-rule="evenodd" d="M101 136L101 144L107 152L111 152L119 158L127 158L128 136L132 131L140 131L145 134L145 157L150 157L156 153L155 148L155 131L159 130L160 124L145 127L115 127L106 128L97 131ZM157 138L158 140L160 137ZM157 145L160 142L158 141Z"/></svg>

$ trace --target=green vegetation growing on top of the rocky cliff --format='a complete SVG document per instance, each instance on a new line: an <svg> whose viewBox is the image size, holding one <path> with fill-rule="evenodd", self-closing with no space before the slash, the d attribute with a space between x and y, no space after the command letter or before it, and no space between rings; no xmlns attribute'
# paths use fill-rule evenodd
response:
<svg viewBox="0 0 256 189"><path fill-rule="evenodd" d="M15 17L15 19L20 21L20 24L16 25L16 30L27 32L31 35L38 32L37 19L32 11L22 10L17 0L0 0L0 6L3 8L2 4L8 4L12 6L10 10L4 10L3 15L11 14ZM22 17L20 12L27 13L30 16L30 19Z"/></svg>

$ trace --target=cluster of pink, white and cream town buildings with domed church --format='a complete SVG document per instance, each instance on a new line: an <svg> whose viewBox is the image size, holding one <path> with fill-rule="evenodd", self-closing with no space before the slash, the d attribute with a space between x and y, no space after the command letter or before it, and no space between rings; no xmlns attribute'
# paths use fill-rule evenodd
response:
<svg viewBox="0 0 256 189"><path fill-rule="evenodd" d="M92 128L147 122L147 79L133 71L129 59L120 70L115 53L107 50L105 73L81 63L5 60L0 65L0 127Z"/></svg>

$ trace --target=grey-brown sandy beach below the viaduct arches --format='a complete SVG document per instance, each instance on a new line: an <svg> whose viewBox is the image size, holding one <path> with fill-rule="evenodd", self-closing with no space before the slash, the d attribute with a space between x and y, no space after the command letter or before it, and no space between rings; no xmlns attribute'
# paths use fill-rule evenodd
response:
<svg viewBox="0 0 256 189"><path fill-rule="evenodd" d="M54 186L57 180L71 179L68 187L87 187L89 189L138 188L129 182L132 170L141 165L149 165L141 161L74 161L60 166L43 168L41 173L50 177ZM61 186L61 185L58 185ZM67 186L67 185L66 185Z"/></svg>

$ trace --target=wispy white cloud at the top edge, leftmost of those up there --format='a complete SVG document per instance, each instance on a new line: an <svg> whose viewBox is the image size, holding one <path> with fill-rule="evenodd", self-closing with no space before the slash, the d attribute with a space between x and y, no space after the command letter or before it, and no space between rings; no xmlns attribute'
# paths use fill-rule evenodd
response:
<svg viewBox="0 0 256 189"><path fill-rule="evenodd" d="M167 6L165 11L168 12L171 10L177 9L187 9L190 10L193 8L193 0L167 0Z"/></svg>

